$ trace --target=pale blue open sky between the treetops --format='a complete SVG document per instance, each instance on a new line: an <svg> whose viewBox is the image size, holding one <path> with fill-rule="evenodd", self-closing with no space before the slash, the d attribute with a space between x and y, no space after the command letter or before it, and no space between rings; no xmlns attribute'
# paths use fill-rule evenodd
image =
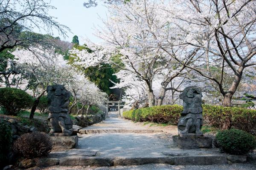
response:
<svg viewBox="0 0 256 170"><path fill-rule="evenodd" d="M60 37L61 40L72 41L74 35L79 37L80 45L84 43L84 39L88 38L94 43L98 43L101 40L93 35L93 27L102 26L100 17L106 18L107 8L102 4L89 9L83 6L83 3L87 0L51 0L50 5L55 6L57 9L49 11L49 15L57 17L55 19L59 23L68 26L71 32L68 32L66 37L58 35L57 31L54 31L55 37Z"/></svg>

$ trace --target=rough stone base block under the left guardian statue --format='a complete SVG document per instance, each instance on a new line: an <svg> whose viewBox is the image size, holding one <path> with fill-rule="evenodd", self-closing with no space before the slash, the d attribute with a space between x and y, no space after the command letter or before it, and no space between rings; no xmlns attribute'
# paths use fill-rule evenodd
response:
<svg viewBox="0 0 256 170"><path fill-rule="evenodd" d="M52 150L69 150L78 145L78 136L56 136L51 137Z"/></svg>

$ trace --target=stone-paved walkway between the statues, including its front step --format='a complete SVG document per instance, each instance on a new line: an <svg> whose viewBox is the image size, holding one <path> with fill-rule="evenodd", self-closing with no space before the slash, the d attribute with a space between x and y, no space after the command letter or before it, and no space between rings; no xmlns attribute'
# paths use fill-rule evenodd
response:
<svg viewBox="0 0 256 170"><path fill-rule="evenodd" d="M61 166L227 164L227 155L217 149L178 149L162 131L148 130L115 115L79 133L83 134L76 149L52 152L50 157L58 158Z"/></svg>

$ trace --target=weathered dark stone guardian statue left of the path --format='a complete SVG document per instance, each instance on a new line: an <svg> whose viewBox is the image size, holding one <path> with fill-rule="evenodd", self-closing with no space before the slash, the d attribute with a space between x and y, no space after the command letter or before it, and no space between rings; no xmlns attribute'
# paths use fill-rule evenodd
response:
<svg viewBox="0 0 256 170"><path fill-rule="evenodd" d="M68 109L70 95L61 84L47 86L50 133L72 133L72 120Z"/></svg>

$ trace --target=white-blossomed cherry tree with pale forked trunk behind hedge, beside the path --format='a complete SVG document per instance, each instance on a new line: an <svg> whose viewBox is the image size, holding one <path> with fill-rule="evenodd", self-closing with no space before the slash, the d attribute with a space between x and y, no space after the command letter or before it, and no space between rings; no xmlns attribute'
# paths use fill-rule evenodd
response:
<svg viewBox="0 0 256 170"><path fill-rule="evenodd" d="M166 91L177 90L175 87L169 87L169 83L189 69L175 61L172 55L166 54L158 45L168 36L163 33L172 29L162 19L159 13L160 5L155 1L109 5L108 20L103 20L104 28L96 32L105 43L100 45L87 42L87 46L93 51L91 53L86 50L72 50L71 53L77 56L76 64L89 67L104 62L131 72L145 82L148 105L161 105ZM182 46L175 48L174 52L180 60L188 64L193 62L197 49ZM161 84L161 94L157 100L153 90L153 81L156 77L161 79L158 80Z"/></svg>

